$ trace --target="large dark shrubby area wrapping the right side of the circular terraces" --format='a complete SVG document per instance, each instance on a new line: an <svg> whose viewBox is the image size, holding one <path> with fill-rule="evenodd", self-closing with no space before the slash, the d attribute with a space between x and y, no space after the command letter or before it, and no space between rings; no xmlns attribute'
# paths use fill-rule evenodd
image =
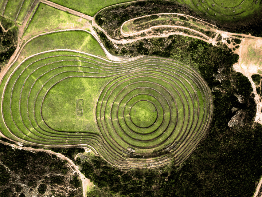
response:
<svg viewBox="0 0 262 197"><path fill-rule="evenodd" d="M253 123L256 104L251 95L251 83L248 78L232 69L238 56L200 40L182 36L162 38L161 42L159 39L141 42L145 45L151 43L143 46L148 51L154 49L158 55L168 52L170 57L179 58L183 54L179 60L188 61L191 66L198 68L213 90L214 115L209 134L180 166L170 165L155 171L123 172L98 157L82 161L83 173L101 188L89 192L88 196L103 196L105 193L107 196L112 196L112 193L172 197L252 196L262 174L262 126ZM163 43L170 43L170 48L175 52L167 50ZM138 42L139 45L142 44ZM181 47L183 53L175 54L180 46L184 46ZM128 46L125 48L128 49ZM133 53L139 54L138 50ZM140 50L141 53L143 50ZM243 96L243 103L239 103L235 94ZM243 126L228 126L229 120L236 113L232 112L233 107L244 111Z"/></svg>

